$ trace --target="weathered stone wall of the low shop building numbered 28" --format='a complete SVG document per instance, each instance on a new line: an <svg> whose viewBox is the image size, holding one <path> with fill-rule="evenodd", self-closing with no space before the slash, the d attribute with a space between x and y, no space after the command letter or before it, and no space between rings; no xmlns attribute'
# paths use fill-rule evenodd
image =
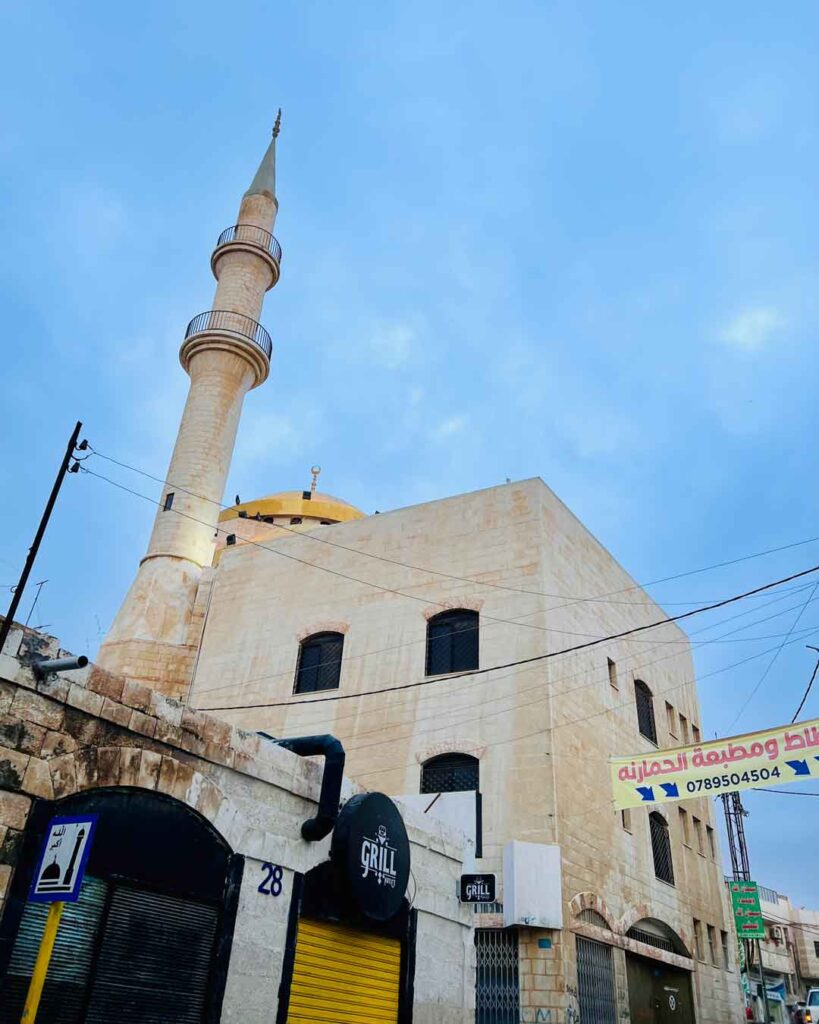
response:
<svg viewBox="0 0 819 1024"><path fill-rule="evenodd" d="M330 838L300 835L315 813L321 765L96 667L37 682L35 653L55 656L56 642L16 630L0 654L0 913L33 800L117 785L167 794L245 857L222 1020L268 1024L294 873L329 853ZM345 782L343 799L355 792ZM404 820L418 910L415 1019L467 1024L474 965L471 914L456 896L462 840L411 810ZM258 893L264 861L284 868L281 898Z"/></svg>

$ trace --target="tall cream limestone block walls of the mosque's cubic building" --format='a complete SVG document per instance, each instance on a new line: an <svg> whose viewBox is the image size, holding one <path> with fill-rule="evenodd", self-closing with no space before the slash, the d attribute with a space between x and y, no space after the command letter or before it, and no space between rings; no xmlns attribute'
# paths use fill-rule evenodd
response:
<svg viewBox="0 0 819 1024"><path fill-rule="evenodd" d="M274 735L332 731L349 752L351 775L387 793L418 793L421 765L436 754L471 754L479 760L483 794L479 869L499 876L500 900L504 844L557 843L565 907L580 893L604 900L617 921L639 907L672 928L689 951L694 920L703 930L731 933L720 851L708 840L708 829L716 836L710 803L663 810L671 886L655 877L647 813L635 809L623 819L610 799L609 756L653 749L638 729L636 679L654 695L659 746L695 739L703 727L688 639L666 625L558 653L665 616L543 481L328 526L321 537L333 544L304 535L272 538L266 543L274 551L224 552L191 689L195 706L234 709L218 713ZM447 607L479 612L480 667L502 668L425 680L426 623ZM345 638L342 699L317 694L299 703L293 695L299 641L325 629ZM517 662L524 664L511 664ZM422 685L407 686L414 683ZM380 692L356 696L371 690ZM549 955L536 936L522 933L524 1006L535 1006L533 992L551 993L536 1005L560 1021L571 1015L576 988L570 928L556 936ZM739 1007L735 973L723 969L710 978L712 968L686 963L705 979L697 982L702 1021L724 1019L723 996Z"/></svg>

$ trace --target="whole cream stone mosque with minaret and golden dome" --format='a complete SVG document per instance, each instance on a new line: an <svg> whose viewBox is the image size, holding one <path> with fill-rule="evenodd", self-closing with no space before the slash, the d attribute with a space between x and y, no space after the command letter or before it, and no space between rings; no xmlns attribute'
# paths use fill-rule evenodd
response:
<svg viewBox="0 0 819 1024"><path fill-rule="evenodd" d="M712 803L615 812L609 794L609 756L698 738L688 639L583 646L663 612L546 483L367 515L314 467L224 504L270 369L277 134L185 333L187 401L99 666L253 732L332 733L359 784L457 823L495 883L474 906L477 1024L736 1019Z"/></svg>

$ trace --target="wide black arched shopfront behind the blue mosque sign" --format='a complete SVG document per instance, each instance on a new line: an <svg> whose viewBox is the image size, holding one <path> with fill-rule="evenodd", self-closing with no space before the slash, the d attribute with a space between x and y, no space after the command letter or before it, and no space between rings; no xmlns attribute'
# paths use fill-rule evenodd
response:
<svg viewBox="0 0 819 1024"><path fill-rule="evenodd" d="M32 811L0 925L0 1024L16 1024L47 907L27 902L49 820L97 814L80 899L66 905L38 1024L219 1020L243 858L163 794L92 790Z"/></svg>

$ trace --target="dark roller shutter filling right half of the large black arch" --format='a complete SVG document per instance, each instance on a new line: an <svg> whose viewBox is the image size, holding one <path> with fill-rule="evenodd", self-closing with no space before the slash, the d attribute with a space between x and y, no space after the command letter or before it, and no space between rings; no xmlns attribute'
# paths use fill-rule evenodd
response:
<svg viewBox="0 0 819 1024"><path fill-rule="evenodd" d="M102 933L87 1024L200 1024L216 923L217 910L209 904L117 888Z"/></svg>

